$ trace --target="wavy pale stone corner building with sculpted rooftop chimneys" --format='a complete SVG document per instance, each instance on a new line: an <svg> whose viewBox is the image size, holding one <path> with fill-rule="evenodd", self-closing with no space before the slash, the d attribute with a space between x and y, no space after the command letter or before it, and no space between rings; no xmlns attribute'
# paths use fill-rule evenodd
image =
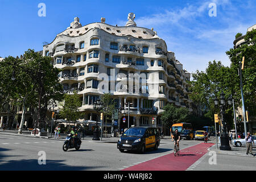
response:
<svg viewBox="0 0 256 182"><path fill-rule="evenodd" d="M96 121L93 103L110 93L117 100L119 131L132 125L162 129L159 116L168 103L193 111L188 98L191 74L153 28L137 27L133 13L127 19L125 26L106 24L105 18L82 26L75 18L43 47L43 55L51 56L54 67L62 70L64 93L79 94L82 119Z"/></svg>

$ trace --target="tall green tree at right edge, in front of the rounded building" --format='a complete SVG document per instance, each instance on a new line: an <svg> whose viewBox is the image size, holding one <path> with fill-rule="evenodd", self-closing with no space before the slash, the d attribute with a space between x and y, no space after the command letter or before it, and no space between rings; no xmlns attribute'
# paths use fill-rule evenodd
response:
<svg viewBox="0 0 256 182"><path fill-rule="evenodd" d="M234 79L234 95L239 98L236 103L241 106L241 89L240 89L240 78L238 77L237 69L239 62L242 61L242 57L245 56L245 68L242 71L242 82L243 82L243 96L245 100L245 108L249 110L249 113L256 114L256 30L247 32L245 35L246 44L243 44L236 49L230 48L226 54L229 56L231 61L230 72L233 73L232 80Z"/></svg>

